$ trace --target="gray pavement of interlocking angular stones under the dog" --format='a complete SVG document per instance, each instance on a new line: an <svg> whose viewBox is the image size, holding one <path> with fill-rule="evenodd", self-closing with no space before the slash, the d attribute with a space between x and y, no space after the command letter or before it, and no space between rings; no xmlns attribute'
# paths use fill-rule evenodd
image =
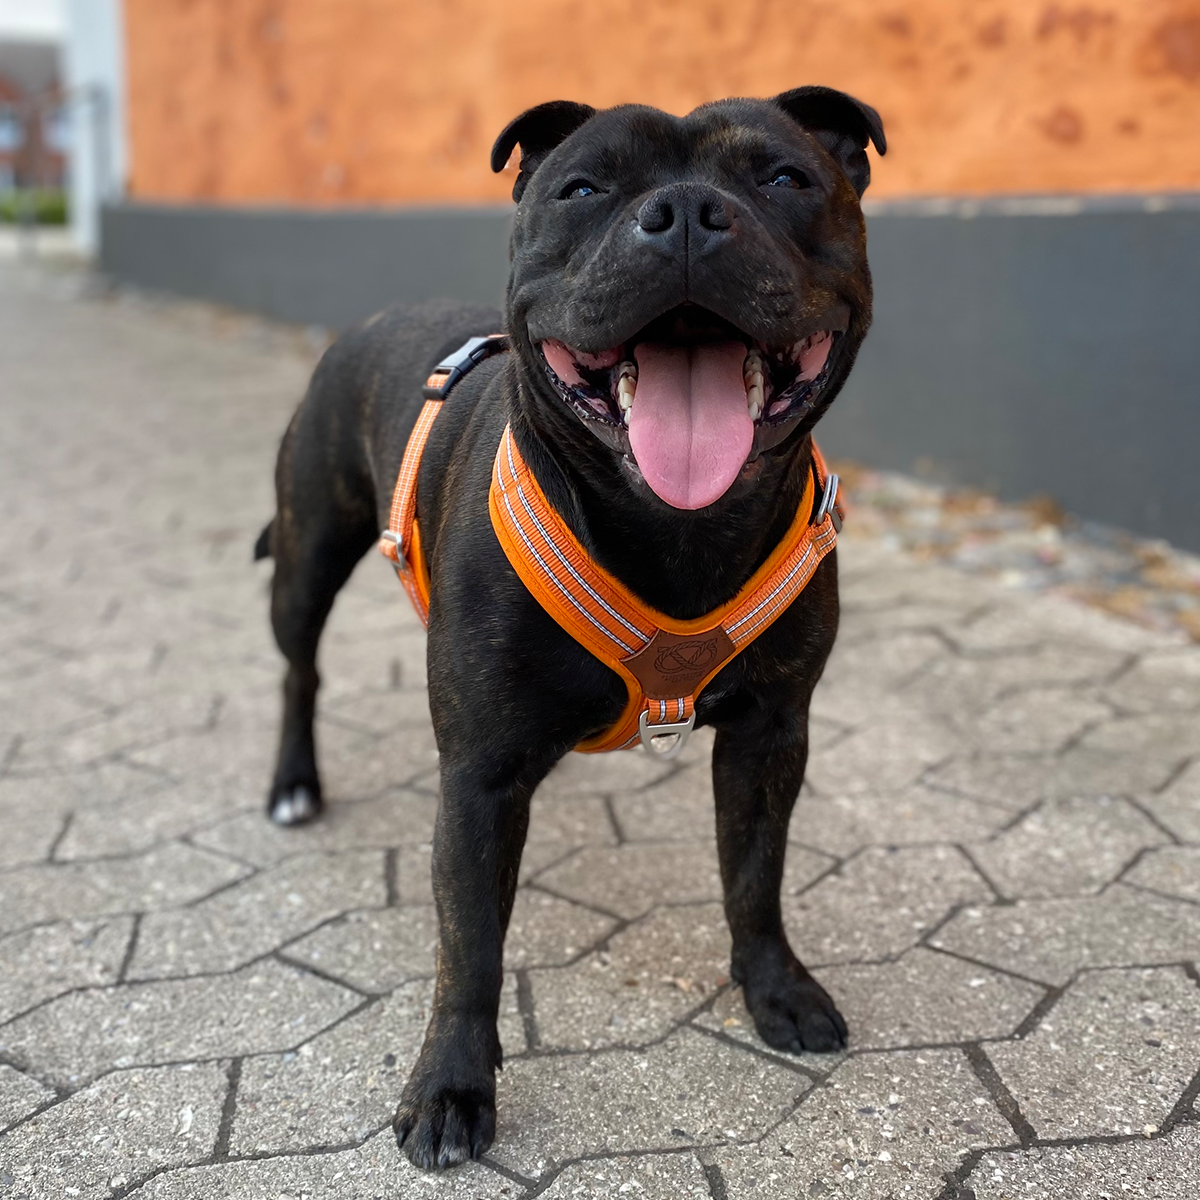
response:
<svg viewBox="0 0 1200 1200"><path fill-rule="evenodd" d="M1200 647L844 540L785 886L851 1049L727 978L707 738L564 762L499 1132L422 1176L436 754L382 559L324 647L317 827L263 815L250 547L302 338L0 264L0 1200L1200 1192Z"/></svg>

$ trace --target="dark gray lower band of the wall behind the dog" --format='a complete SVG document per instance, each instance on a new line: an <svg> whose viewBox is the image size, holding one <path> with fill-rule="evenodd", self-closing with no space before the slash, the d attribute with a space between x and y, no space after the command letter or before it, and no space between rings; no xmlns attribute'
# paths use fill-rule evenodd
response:
<svg viewBox="0 0 1200 1200"><path fill-rule="evenodd" d="M102 268L340 328L394 300L498 302L505 208L122 204ZM835 455L1200 551L1200 198L871 206L876 317L822 424Z"/></svg>

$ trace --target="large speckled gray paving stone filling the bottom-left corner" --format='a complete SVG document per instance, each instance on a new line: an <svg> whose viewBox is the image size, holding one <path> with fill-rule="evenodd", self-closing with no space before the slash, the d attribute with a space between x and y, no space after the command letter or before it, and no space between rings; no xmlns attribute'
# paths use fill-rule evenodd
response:
<svg viewBox="0 0 1200 1200"><path fill-rule="evenodd" d="M30 1200L104 1200L209 1158L228 1088L217 1063L114 1072L8 1134L5 1168Z"/></svg>

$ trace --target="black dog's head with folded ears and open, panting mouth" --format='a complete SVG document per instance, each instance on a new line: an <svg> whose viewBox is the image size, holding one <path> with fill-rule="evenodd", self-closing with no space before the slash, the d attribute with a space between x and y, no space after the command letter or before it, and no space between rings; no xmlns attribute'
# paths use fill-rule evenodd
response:
<svg viewBox="0 0 1200 1200"><path fill-rule="evenodd" d="M868 142L878 114L829 88L516 118L492 167L521 146L508 326L542 418L574 413L676 509L752 486L870 324Z"/></svg>

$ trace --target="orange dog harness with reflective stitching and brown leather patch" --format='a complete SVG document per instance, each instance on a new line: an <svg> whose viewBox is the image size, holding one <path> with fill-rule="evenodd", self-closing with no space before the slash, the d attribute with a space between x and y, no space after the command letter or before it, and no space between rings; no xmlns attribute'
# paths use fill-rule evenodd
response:
<svg viewBox="0 0 1200 1200"><path fill-rule="evenodd" d="M416 521L416 476L442 401L478 362L506 348L498 335L472 338L442 362L425 386L401 463L391 520L379 548L396 568L421 620L428 624L430 575ZM814 445L810 474L784 540L738 594L714 612L676 620L640 600L593 562L526 464L505 426L496 452L487 506L492 528L521 582L584 649L625 682L629 698L617 724L577 750L623 750L638 740L662 758L674 757L696 722L696 697L804 590L841 529L838 476ZM823 484L817 503L816 485Z"/></svg>

